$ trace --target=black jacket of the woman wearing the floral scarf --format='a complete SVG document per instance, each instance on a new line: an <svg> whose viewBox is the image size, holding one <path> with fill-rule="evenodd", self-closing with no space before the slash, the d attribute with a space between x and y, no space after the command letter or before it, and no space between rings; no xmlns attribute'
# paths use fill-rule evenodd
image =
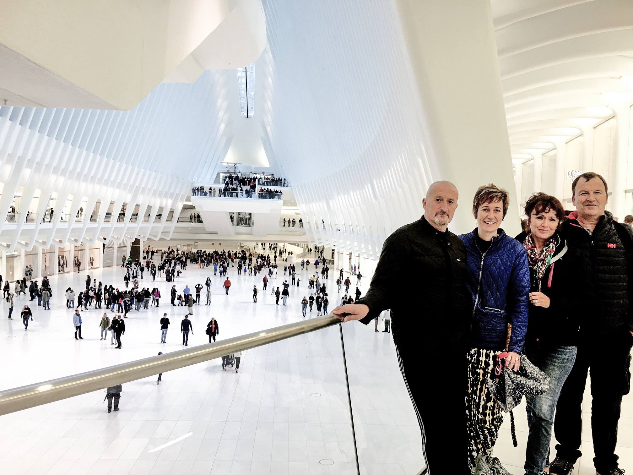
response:
<svg viewBox="0 0 633 475"><path fill-rule="evenodd" d="M522 232L517 241L523 244L527 234ZM576 346L580 326L581 308L574 286L579 272L569 258L565 239L555 234L556 249L551 264L541 279L540 292L549 297L549 307L536 307L530 303L525 352L530 353L539 345ZM533 276L530 267L530 276ZM539 292L538 282L530 278L530 292Z"/></svg>

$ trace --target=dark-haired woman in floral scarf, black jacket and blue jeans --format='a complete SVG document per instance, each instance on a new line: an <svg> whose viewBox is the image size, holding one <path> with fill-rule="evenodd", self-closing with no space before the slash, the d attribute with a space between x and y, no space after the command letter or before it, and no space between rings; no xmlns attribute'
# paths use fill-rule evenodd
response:
<svg viewBox="0 0 633 475"><path fill-rule="evenodd" d="M576 359L580 312L576 307L573 260L558 234L563 205L554 196L536 193L525 203L529 231L517 236L530 265L530 307L523 353L549 377L549 390L527 400L525 474L549 467L549 443L556 402Z"/></svg>

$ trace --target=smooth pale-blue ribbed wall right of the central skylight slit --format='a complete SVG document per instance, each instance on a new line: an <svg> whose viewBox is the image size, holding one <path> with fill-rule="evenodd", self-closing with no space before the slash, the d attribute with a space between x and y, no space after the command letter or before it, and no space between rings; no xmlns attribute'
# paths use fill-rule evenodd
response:
<svg viewBox="0 0 633 475"><path fill-rule="evenodd" d="M377 257L386 236L423 214L432 181L394 5L263 6L263 141L311 242Z"/></svg>

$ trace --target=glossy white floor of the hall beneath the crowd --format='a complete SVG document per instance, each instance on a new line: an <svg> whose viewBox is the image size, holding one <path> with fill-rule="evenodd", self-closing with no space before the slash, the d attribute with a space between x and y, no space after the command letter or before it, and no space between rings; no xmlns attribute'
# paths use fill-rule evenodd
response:
<svg viewBox="0 0 633 475"><path fill-rule="evenodd" d="M283 267L283 266L282 266ZM0 360L3 388L45 381L99 367L127 362L159 351L183 348L179 325L183 307L172 307L172 284L147 273L141 281L158 286L159 308L131 312L125 320L122 350L110 339L99 340L100 310L82 312L83 340L73 338L72 311L63 292L83 288L90 274L104 284L123 284L123 269L64 274L51 278L54 298L50 311L33 308L34 321L24 331L20 308L28 294L16 299L14 320L6 320L1 301ZM231 269L230 295L223 279L209 270L189 266L177 289L193 288L213 279L212 305L196 306L189 344L207 343L206 323L215 316L220 338L230 338L301 320L299 301L309 295L301 273L301 287L291 287L287 307L261 290L260 277L237 277ZM331 276L331 274L330 274ZM368 279L363 279L363 291ZM269 290L284 281L283 273ZM335 279L326 281L336 295ZM253 284L260 289L252 301ZM332 298L334 308L336 298ZM33 303L33 302L31 302ZM35 302L37 304L37 302ZM203 301L204 303L204 301ZM105 309L104 309L105 310ZM159 320L167 312L172 326L165 345ZM316 308L312 312L315 316ZM108 315L111 315L108 311ZM4 320L2 320L4 319ZM373 325L345 324L354 422L361 473L417 474L423 467L420 431L398 371L390 334L374 333ZM382 328L380 328L382 329ZM249 350L240 372L222 371L220 360L123 385L121 410L107 414L104 391L0 417L0 473L5 475L220 475L220 474L354 474L348 399L342 370L339 328L333 327ZM585 410L591 407L586 395ZM527 438L523 407L515 410L519 447L513 448L509 420L496 448L508 470L522 475ZM587 414L587 422L589 421ZM625 396L620 421L618 454L621 466L633 470L633 398ZM509 419L509 418L508 418ZM585 426L575 474L593 474L591 429ZM154 449L165 446L159 450ZM450 441L447 441L447 449Z"/></svg>

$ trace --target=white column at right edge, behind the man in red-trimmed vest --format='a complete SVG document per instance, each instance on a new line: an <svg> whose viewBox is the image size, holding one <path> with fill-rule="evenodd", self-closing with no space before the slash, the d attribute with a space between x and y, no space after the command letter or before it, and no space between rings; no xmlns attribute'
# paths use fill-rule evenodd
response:
<svg viewBox="0 0 633 475"><path fill-rule="evenodd" d="M615 156L613 156L613 180L611 191L611 213L624 221L626 213L627 167L629 162L630 104L610 104L615 112Z"/></svg>

